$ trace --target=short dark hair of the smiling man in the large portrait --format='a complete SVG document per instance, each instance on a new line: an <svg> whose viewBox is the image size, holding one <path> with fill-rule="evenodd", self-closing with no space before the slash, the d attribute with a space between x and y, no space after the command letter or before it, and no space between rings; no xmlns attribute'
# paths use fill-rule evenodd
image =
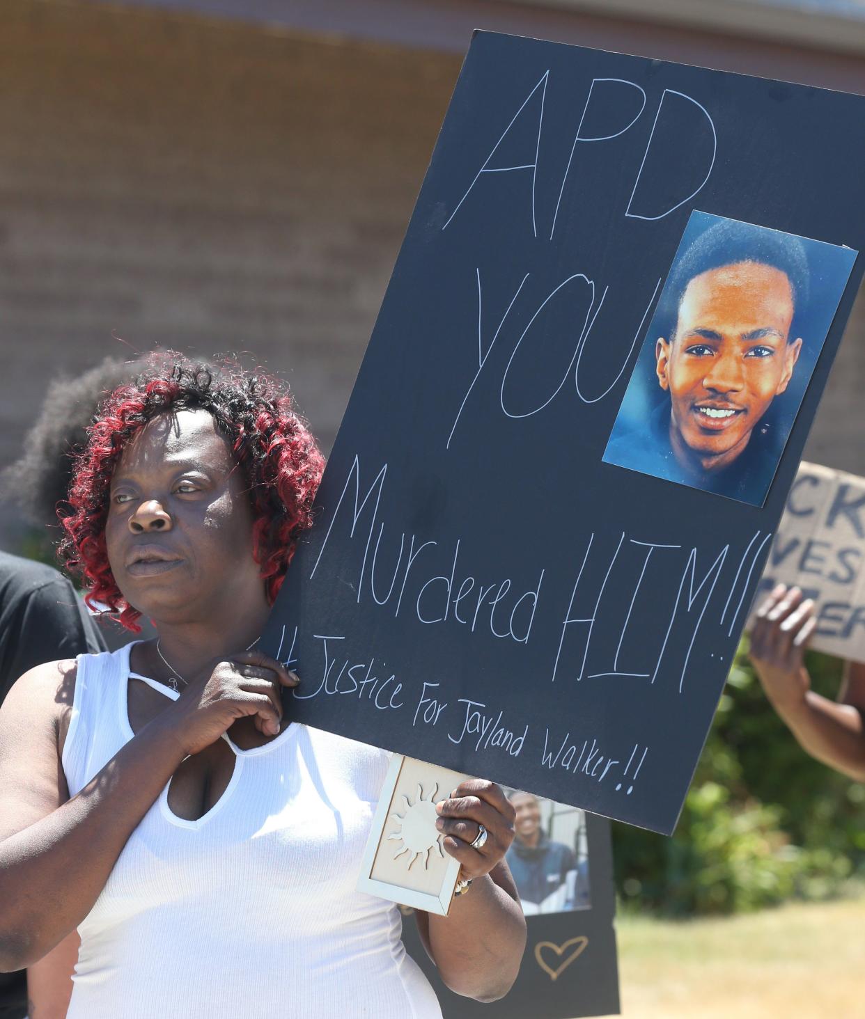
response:
<svg viewBox="0 0 865 1019"><path fill-rule="evenodd" d="M669 323L668 334L675 330L679 305L692 279L712 269L743 262L768 265L784 273L793 290L794 308L808 301L808 256L799 237L737 219L724 219L693 240L670 270L663 309L663 318Z"/></svg>

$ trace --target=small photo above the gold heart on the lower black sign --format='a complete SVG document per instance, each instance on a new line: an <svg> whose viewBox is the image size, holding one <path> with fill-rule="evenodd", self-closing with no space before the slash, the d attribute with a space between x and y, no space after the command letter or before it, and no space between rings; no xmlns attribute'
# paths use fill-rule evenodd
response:
<svg viewBox="0 0 865 1019"><path fill-rule="evenodd" d="M523 914L589 909L584 811L516 789L506 795L516 814L507 861Z"/></svg>

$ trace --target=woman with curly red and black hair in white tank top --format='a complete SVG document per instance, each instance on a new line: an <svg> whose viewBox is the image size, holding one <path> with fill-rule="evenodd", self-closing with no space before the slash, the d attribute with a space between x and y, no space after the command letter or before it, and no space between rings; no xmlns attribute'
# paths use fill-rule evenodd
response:
<svg viewBox="0 0 865 1019"><path fill-rule="evenodd" d="M0 969L78 928L69 1017L440 1015L397 908L354 889L387 754L284 718L299 680L256 648L322 467L277 381L180 356L90 430L62 553L158 638L32 669L0 710ZM445 801L474 883L417 914L479 1000L524 946L512 820L491 783Z"/></svg>

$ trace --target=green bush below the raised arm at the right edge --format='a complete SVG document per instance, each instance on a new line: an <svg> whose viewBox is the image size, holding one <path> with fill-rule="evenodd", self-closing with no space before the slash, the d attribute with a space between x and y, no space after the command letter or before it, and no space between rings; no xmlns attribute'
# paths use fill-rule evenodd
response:
<svg viewBox="0 0 865 1019"><path fill-rule="evenodd" d="M814 761L766 700L739 649L675 834L613 825L616 882L629 903L671 916L734 913L836 895L865 872L865 787ZM809 654L834 697L841 662Z"/></svg>

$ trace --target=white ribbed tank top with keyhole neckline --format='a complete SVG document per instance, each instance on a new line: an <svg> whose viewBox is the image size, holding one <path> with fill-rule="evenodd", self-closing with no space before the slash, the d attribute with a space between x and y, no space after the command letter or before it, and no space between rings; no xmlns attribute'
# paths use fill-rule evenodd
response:
<svg viewBox="0 0 865 1019"><path fill-rule="evenodd" d="M129 677L130 646L79 656L70 796L133 738ZM67 1019L440 1019L399 909L355 891L387 753L297 722L224 739L218 802L184 820L166 786L130 836L79 928Z"/></svg>

